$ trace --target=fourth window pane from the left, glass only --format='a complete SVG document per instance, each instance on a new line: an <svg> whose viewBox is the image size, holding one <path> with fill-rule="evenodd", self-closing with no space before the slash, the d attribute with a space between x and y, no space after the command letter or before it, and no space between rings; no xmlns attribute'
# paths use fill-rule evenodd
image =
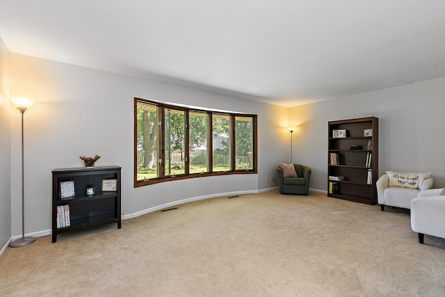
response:
<svg viewBox="0 0 445 297"><path fill-rule="evenodd" d="M230 117L213 115L212 118L213 172L230 170Z"/></svg>

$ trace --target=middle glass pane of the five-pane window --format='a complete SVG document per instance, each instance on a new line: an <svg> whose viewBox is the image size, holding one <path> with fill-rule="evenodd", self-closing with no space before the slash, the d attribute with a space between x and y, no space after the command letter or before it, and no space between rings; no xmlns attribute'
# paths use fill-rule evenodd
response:
<svg viewBox="0 0 445 297"><path fill-rule="evenodd" d="M209 172L207 155L207 113L188 113L190 173Z"/></svg>

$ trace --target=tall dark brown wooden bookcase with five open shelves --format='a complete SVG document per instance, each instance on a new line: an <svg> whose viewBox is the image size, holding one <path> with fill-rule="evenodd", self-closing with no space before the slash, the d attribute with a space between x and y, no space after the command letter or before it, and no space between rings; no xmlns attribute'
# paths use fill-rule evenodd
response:
<svg viewBox="0 0 445 297"><path fill-rule="evenodd" d="M369 129L372 129L371 134ZM367 136L364 136L365 134ZM330 121L327 139L327 196L375 204L375 182L378 179L378 118ZM332 180L329 176L344 179Z"/></svg>

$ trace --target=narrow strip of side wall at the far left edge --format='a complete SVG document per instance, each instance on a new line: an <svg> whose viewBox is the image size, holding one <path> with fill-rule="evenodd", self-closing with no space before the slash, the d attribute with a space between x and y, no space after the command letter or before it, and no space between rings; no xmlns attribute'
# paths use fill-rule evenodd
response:
<svg viewBox="0 0 445 297"><path fill-rule="evenodd" d="M0 250L11 237L10 55L0 38Z"/></svg>

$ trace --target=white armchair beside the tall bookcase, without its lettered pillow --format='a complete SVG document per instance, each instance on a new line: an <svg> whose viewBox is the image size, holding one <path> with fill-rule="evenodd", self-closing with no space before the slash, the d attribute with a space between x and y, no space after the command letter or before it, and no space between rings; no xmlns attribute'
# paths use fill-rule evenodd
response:
<svg viewBox="0 0 445 297"><path fill-rule="evenodd" d="M423 195L423 191L432 188L434 179L428 178L420 182L419 188L405 188L401 186L389 186L389 171L382 175L376 182L378 204L385 211L385 205L411 209L411 200ZM393 172L394 173L394 172ZM420 173L420 175L422 175Z"/></svg>

